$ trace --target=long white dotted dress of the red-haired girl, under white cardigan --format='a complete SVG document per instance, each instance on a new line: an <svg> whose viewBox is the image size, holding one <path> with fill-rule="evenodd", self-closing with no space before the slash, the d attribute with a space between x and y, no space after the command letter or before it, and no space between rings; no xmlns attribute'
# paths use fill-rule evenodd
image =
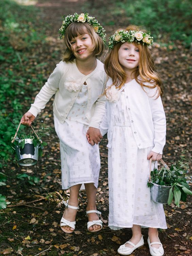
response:
<svg viewBox="0 0 192 256"><path fill-rule="evenodd" d="M112 147L109 148L109 227L121 229L133 224L167 228L162 204L150 199L147 188L152 147L139 149L126 106L124 90L115 109Z"/></svg>

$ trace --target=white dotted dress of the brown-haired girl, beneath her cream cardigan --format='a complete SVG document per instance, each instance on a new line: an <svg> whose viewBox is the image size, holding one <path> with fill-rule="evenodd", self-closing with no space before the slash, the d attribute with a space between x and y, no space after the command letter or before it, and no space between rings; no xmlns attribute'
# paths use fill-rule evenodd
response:
<svg viewBox="0 0 192 256"><path fill-rule="evenodd" d="M85 117L86 108L87 86L83 85L65 122L61 124L54 116L55 131L60 139L62 189L84 183L98 186L99 146L87 142L89 122Z"/></svg>

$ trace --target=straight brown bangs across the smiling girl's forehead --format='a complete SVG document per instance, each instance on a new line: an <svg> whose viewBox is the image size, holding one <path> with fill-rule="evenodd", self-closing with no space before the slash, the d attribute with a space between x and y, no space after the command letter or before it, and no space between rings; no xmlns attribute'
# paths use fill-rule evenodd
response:
<svg viewBox="0 0 192 256"><path fill-rule="evenodd" d="M67 31L69 41L71 41L73 38L79 35L87 34L87 28L84 25L84 23L73 22L69 26L70 27L68 27L68 31Z"/></svg>

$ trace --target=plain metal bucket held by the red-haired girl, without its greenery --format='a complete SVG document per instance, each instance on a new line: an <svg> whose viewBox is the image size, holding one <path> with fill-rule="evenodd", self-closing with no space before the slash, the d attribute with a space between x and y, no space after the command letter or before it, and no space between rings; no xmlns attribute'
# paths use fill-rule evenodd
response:
<svg viewBox="0 0 192 256"><path fill-rule="evenodd" d="M167 204L172 186L162 186L151 181L150 183L153 184L153 187L151 187L151 199L158 204Z"/></svg>

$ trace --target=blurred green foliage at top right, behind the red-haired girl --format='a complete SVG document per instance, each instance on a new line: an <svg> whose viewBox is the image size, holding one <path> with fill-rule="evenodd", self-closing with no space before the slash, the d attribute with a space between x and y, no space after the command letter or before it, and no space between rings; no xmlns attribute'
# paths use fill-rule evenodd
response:
<svg viewBox="0 0 192 256"><path fill-rule="evenodd" d="M124 0L118 1L116 5L119 15L122 15L120 12L124 10L128 19L127 25L135 24L150 28L155 41L179 40L186 47L190 46L192 35L189 0Z"/></svg>

